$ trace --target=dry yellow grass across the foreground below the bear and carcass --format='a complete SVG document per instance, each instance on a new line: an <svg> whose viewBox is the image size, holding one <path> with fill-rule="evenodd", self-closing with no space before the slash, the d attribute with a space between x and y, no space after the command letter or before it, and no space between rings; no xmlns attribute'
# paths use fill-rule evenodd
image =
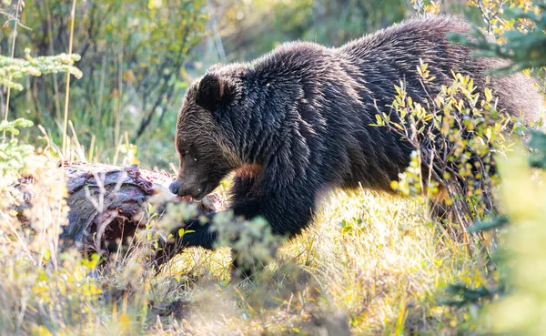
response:
<svg viewBox="0 0 546 336"><path fill-rule="evenodd" d="M188 249L157 277L137 255L119 256L101 274L75 253L55 257L66 209L60 170L46 162L28 165L44 196L30 216L37 233L1 213L0 334L439 335L476 327L467 311L437 300L450 282L479 281L483 265L441 237L419 199L332 193L312 228L254 281L230 279L228 249Z"/></svg>

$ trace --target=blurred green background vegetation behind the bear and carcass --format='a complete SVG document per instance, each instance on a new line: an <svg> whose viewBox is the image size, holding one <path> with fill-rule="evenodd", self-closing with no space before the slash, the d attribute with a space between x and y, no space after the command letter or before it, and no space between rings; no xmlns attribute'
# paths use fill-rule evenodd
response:
<svg viewBox="0 0 546 336"><path fill-rule="evenodd" d="M31 56L68 51L71 2L0 4L0 55L24 57L25 48ZM83 76L71 83L69 120L75 133L69 127L68 136L83 158L113 162L119 153L136 151L144 166L168 168L177 161L172 141L185 89L207 66L248 61L296 39L339 46L430 4L437 6L429 8L433 11L481 20L466 0L77 2L73 52L81 56L76 66ZM25 89L12 91L9 115L42 125L60 143L66 76L27 76L20 84Z"/></svg>

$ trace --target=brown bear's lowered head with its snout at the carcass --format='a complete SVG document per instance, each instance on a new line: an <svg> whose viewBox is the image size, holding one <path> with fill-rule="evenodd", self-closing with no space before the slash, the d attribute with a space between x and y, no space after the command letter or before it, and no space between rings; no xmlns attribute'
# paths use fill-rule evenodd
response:
<svg viewBox="0 0 546 336"><path fill-rule="evenodd" d="M188 89L177 120L175 146L180 159L177 180L169 189L178 196L202 199L230 171L242 164L233 127L221 119L241 97L240 76L211 71Z"/></svg>

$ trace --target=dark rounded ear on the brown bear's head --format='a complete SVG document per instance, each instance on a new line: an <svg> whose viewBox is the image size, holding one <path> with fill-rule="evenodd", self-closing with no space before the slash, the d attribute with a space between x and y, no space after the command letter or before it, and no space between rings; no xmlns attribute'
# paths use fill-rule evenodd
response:
<svg viewBox="0 0 546 336"><path fill-rule="evenodd" d="M197 87L196 104L215 112L219 108L227 107L235 97L235 85L226 78L208 73L203 76Z"/></svg>

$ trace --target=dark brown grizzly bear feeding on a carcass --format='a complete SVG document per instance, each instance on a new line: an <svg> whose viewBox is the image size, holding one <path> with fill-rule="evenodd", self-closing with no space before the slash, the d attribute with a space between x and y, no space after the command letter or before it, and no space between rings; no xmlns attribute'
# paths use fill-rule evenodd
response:
<svg viewBox="0 0 546 336"><path fill-rule="evenodd" d="M293 237L308 227L319 195L330 188L391 190L415 149L388 127L373 127L389 113L395 86L415 100L450 85L452 72L469 75L483 92L487 71L500 60L474 58L449 33L470 34L453 17L410 19L340 47L294 42L250 63L212 66L188 89L177 120L180 158L170 190L201 199L234 173L230 209L267 219L272 232ZM417 68L428 64L425 91ZM498 108L527 121L537 118L542 97L531 79L492 78ZM430 91L431 90L431 91ZM210 223L185 224L187 233L166 254L190 246L213 249Z"/></svg>

